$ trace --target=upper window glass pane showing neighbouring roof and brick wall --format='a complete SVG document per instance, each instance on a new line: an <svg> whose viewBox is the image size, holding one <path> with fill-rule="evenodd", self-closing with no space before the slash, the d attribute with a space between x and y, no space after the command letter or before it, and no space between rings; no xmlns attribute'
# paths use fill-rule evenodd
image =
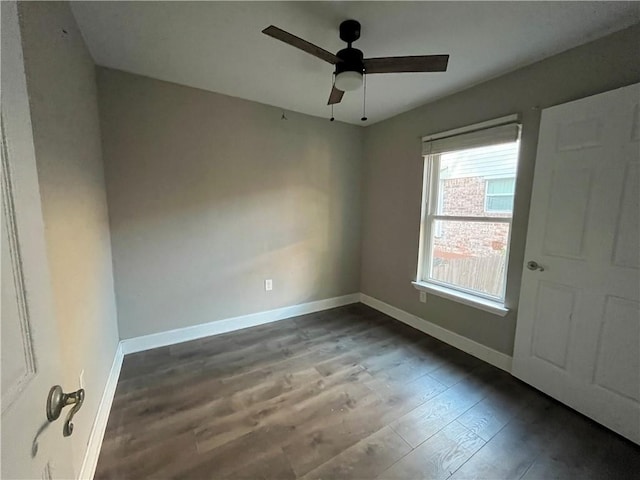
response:
<svg viewBox="0 0 640 480"><path fill-rule="evenodd" d="M488 197L513 195L517 163L518 142L440 154L437 214L487 216ZM508 202L500 203L505 216Z"/></svg>

